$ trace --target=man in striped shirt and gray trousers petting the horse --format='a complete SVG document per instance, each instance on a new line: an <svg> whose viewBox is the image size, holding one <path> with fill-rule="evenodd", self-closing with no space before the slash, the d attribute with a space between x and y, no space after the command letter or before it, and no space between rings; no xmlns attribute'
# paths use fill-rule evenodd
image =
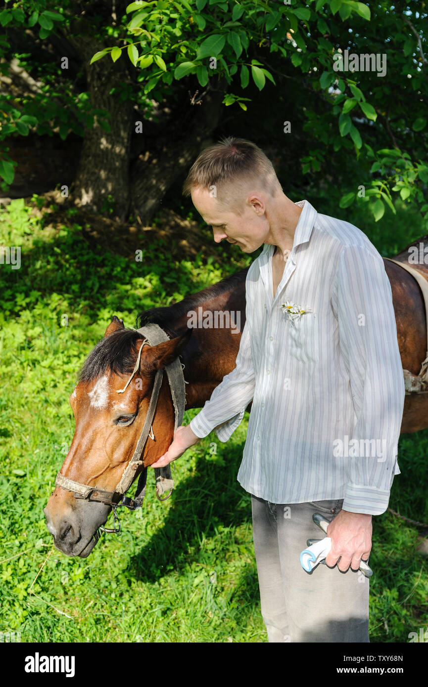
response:
<svg viewBox="0 0 428 687"><path fill-rule="evenodd" d="M261 613L269 642L369 642L372 515L397 464L405 388L383 260L347 222L283 193L255 144L206 148L184 183L214 240L253 253L236 367L175 431L167 465L216 428L226 441L253 405L237 479L252 495ZM325 565L306 539L331 519Z"/></svg>

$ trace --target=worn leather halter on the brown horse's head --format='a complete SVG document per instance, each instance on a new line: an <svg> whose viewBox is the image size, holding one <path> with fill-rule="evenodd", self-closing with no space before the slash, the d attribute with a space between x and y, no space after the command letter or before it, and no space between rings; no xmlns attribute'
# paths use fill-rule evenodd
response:
<svg viewBox="0 0 428 687"><path fill-rule="evenodd" d="M158 343L163 343L164 341L169 341L169 336L158 326L158 324L147 324L137 330L144 338L144 344L149 343L150 346L156 346ZM140 348L140 352L142 350ZM140 362L140 352L138 355L136 366L133 370L132 376L136 373L138 365ZM114 515L116 516L115 508L117 506L126 506L130 510L136 510L140 508L146 493L146 482L147 482L147 466L144 465L144 461L140 460L142 453L144 452L147 438L150 436L151 424L153 423L153 417L156 412L156 405L158 403L158 397L160 392L160 385L162 384L163 373L167 372L167 377L169 381L169 387L171 389L171 396L174 406L174 430L177 429L179 425L182 424L185 406L185 387L184 387L184 375L182 370L182 364L180 359L177 357L172 363L167 365L166 368L158 370L155 375L155 381L153 384L153 390L151 392L151 398L149 403L149 409L147 411L147 416L145 418L145 423L142 427L140 438L138 439L136 449L133 452L133 456L125 470L120 477L120 481L114 488L114 491L106 491L98 486L89 486L88 484L81 484L81 482L75 482L70 480L68 477L61 475L58 472L56 475L55 485L60 486L63 489L72 491L76 499L87 499L88 501L97 501L107 506L112 506L114 510ZM132 377L131 376L131 377ZM129 379L129 381L131 378ZM128 383L129 383L128 381ZM128 385L128 384L127 384ZM126 389L126 387L125 387ZM122 391L125 391L122 390ZM131 486L133 480L136 477L136 473L140 466L143 466L143 470L140 473L140 478L138 480L138 486L136 495L133 499L126 496L126 493ZM156 496L160 501L166 501L171 496L174 488L174 482L171 479L171 468L169 465L164 468L155 468L156 475ZM161 498L164 491L168 491L167 497ZM116 516L117 519L117 516ZM119 524L120 528L120 524ZM104 530L105 532L119 532L120 530Z"/></svg>

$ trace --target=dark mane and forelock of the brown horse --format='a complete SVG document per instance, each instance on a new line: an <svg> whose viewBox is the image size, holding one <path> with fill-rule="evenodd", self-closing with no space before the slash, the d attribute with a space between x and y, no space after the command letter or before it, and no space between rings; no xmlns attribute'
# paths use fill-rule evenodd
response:
<svg viewBox="0 0 428 687"><path fill-rule="evenodd" d="M178 336L173 328L175 319L179 319L189 310L195 310L197 306L203 305L207 300L223 295L226 291L231 291L245 280L247 271L248 267L229 275L213 286L208 286L207 289L184 297L183 300L173 305L142 311L137 317L137 327L154 323L158 324L171 337ZM98 341L83 363L78 374L78 381L94 381L94 379L108 372L114 374L131 373L136 361L137 341L142 338L142 335L135 329L123 328L117 329L108 337Z"/></svg>

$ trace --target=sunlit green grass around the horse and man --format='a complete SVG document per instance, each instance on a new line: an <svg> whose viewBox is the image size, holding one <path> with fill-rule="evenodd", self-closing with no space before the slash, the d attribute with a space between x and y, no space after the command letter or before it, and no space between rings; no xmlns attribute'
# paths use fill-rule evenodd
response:
<svg viewBox="0 0 428 687"><path fill-rule="evenodd" d="M398 250L423 233L400 215L396 234L388 227L391 254L397 240ZM22 245L21 269L0 265L0 631L19 631L23 642L266 642L250 496L236 481L247 417L227 444L208 436L174 464L165 504L150 475L142 510L121 513L122 537L103 535L88 559L52 550L43 515L74 432L76 372L111 315L133 326L144 308L213 284L249 258L219 247L219 264L202 254L189 262L142 236L145 259L133 262L90 249L78 225L50 228L23 201L0 221L0 243ZM349 221L370 236L358 218ZM387 249L385 236L370 238ZM390 502L424 521L427 449L428 430L400 438ZM417 536L389 513L374 518L372 642L407 642L427 626Z"/></svg>

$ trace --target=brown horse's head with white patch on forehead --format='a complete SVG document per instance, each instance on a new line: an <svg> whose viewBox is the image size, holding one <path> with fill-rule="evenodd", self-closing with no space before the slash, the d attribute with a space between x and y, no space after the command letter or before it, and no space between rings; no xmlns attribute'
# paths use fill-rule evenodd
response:
<svg viewBox="0 0 428 687"><path fill-rule="evenodd" d="M156 372L178 357L190 335L191 330L149 346L136 330L125 328L116 316L112 319L69 398L76 427L61 475L114 492L138 443ZM156 462L173 438L174 408L166 375L152 429L155 439L147 439L140 457L144 467ZM98 541L98 528L107 522L110 510L110 505L76 498L69 489L56 486L44 512L56 548L67 556L85 558Z"/></svg>

